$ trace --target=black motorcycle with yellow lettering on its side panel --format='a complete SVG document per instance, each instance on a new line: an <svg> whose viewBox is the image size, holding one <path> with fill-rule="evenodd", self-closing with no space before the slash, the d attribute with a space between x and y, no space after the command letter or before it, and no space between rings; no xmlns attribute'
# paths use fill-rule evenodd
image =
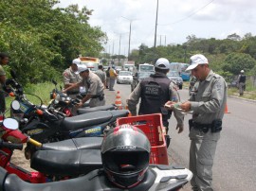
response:
<svg viewBox="0 0 256 191"><path fill-rule="evenodd" d="M11 111L14 118L15 111L20 113L21 109L13 107L20 102L13 100ZM38 112L41 111L41 112ZM40 114L39 114L40 113ZM49 109L34 107L34 112L29 113L26 125L22 127L22 132L31 138L41 142L58 142L70 138L102 136L104 130L116 127L116 120L119 117L127 116L128 111L99 111L97 113L85 113L73 117L64 117L63 113L52 113ZM21 120L21 119L20 119ZM26 158L29 159L36 148L27 143Z"/></svg>

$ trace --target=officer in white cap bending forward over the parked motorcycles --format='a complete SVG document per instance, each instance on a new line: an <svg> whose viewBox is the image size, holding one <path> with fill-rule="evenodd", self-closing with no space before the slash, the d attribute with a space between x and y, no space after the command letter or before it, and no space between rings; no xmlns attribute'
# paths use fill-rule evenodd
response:
<svg viewBox="0 0 256 191"><path fill-rule="evenodd" d="M63 92L65 93L72 89L79 88L80 86L84 86L86 89L86 96L82 98L81 102L78 104L78 107L82 107L83 103L89 99L89 106L91 108L105 105L106 100L103 92L104 84L101 82L101 78L99 78L93 72L90 72L85 65L79 65L78 72L82 77L82 81L69 86L68 88L64 89Z"/></svg>

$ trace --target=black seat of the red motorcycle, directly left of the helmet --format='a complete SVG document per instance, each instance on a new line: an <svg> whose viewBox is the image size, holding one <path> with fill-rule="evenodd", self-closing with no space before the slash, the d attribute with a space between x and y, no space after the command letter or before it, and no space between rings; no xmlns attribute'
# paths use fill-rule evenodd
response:
<svg viewBox="0 0 256 191"><path fill-rule="evenodd" d="M47 175L79 176L102 167L101 149L38 150L30 166Z"/></svg>

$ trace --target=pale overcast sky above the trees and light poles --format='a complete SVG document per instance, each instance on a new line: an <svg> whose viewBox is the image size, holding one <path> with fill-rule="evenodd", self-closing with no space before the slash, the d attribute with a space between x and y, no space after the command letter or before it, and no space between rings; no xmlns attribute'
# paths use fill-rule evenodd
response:
<svg viewBox="0 0 256 191"><path fill-rule="evenodd" d="M155 42L157 0L60 0L60 7L78 4L93 9L89 24L101 26L109 43L104 45L110 54L128 54L141 43L149 47ZM186 37L225 39L236 33L243 37L250 32L256 36L255 0L158 0L156 45L185 43ZM127 19L125 19L125 18ZM120 38L121 34L121 38Z"/></svg>

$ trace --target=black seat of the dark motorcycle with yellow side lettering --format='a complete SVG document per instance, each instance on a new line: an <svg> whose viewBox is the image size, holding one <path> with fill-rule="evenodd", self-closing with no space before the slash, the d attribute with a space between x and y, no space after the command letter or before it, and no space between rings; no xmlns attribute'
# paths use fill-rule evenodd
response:
<svg viewBox="0 0 256 191"><path fill-rule="evenodd" d="M85 127L93 127L111 120L111 111L99 111L95 113L85 113L64 118L61 124L62 130L78 130Z"/></svg>

